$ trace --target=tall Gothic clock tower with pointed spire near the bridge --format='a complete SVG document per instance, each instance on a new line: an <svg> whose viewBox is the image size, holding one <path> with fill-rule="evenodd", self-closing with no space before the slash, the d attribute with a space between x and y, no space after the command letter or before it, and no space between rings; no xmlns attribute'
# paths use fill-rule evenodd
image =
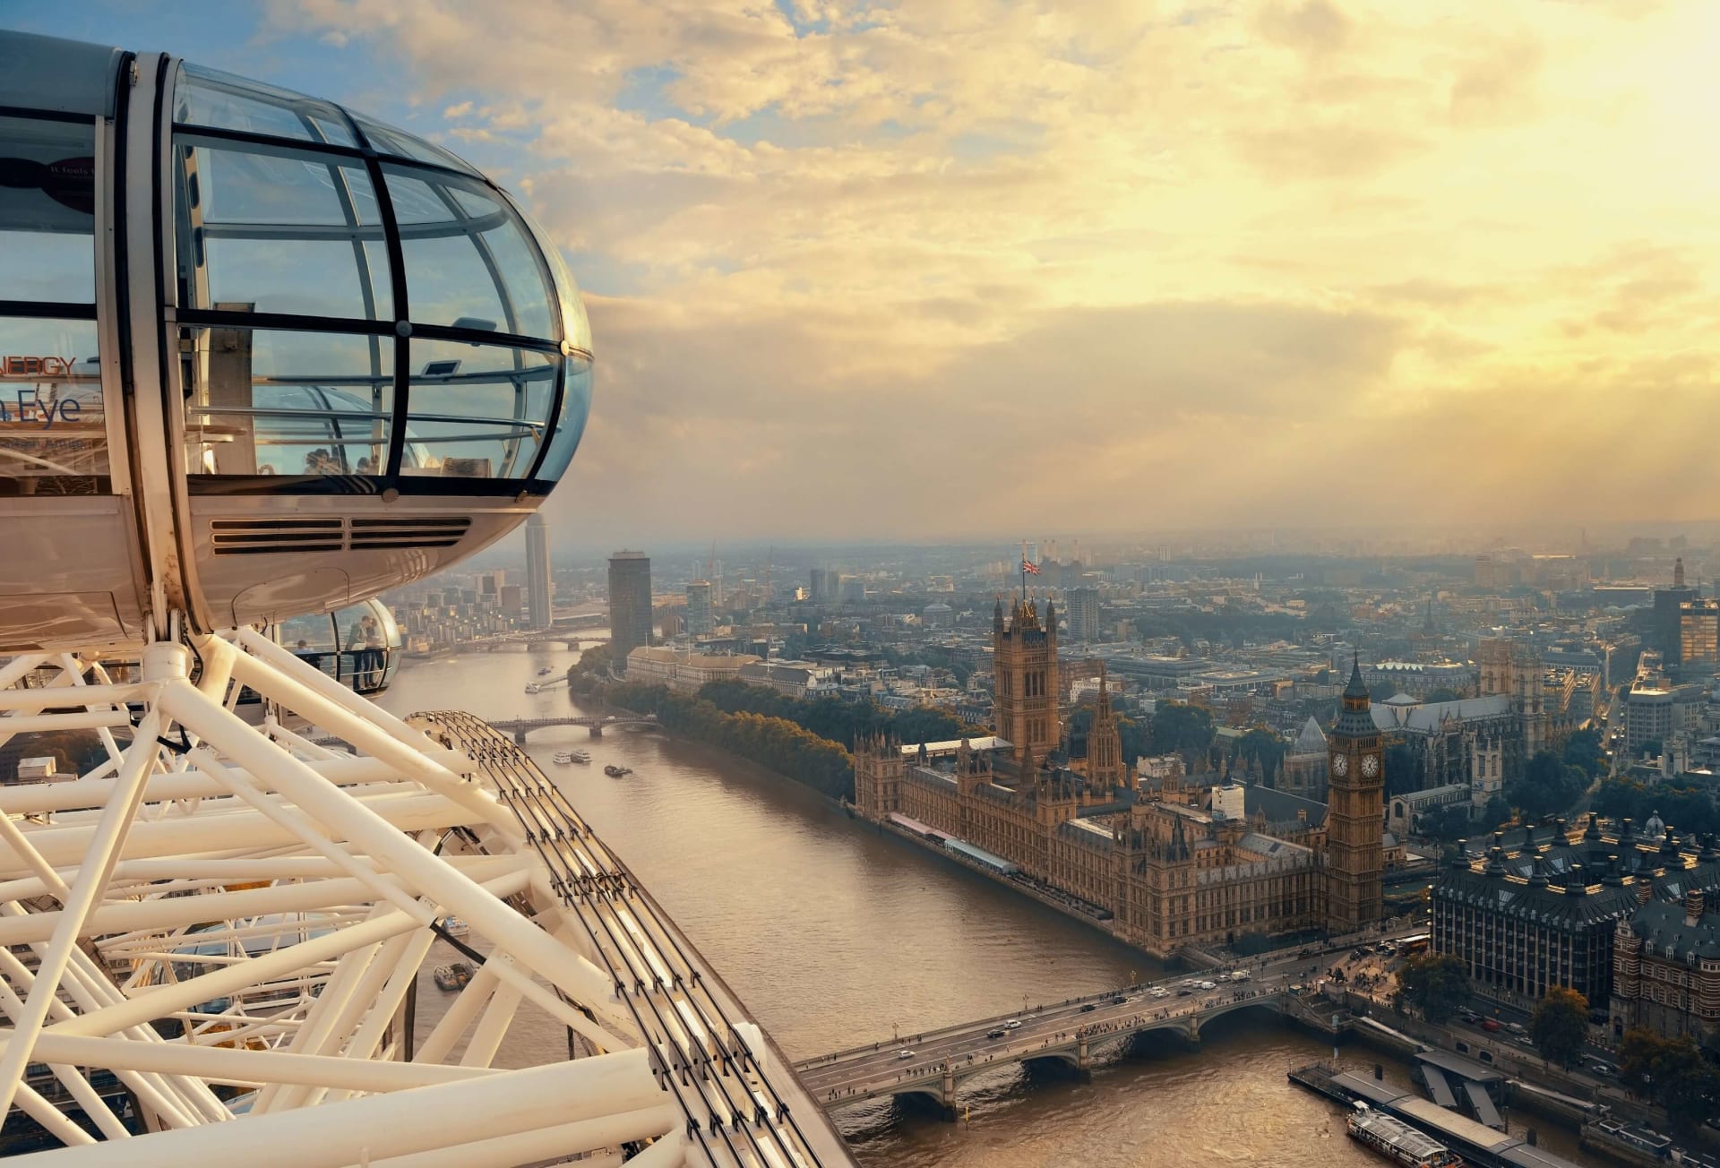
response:
<svg viewBox="0 0 1720 1168"><path fill-rule="evenodd" d="M1361 659L1350 669L1328 745L1326 929L1342 934L1379 922L1379 872L1385 867L1385 759L1379 729L1367 712Z"/></svg>

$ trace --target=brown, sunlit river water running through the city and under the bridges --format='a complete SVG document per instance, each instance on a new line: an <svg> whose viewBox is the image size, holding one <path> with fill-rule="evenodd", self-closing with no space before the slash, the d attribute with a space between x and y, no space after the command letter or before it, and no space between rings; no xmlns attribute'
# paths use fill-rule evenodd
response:
<svg viewBox="0 0 1720 1168"><path fill-rule="evenodd" d="M504 719L585 712L566 690L526 695L569 650L406 662L380 705ZM1010 1013L1156 975L1147 956L1025 896L848 819L814 791L659 733L535 731L531 757L638 874L793 1060ZM592 765L554 765L585 748ZM609 762L633 767L609 779ZM528 1061L564 1056L547 1025ZM965 1123L877 1101L838 1111L865 1165L1084 1168L1385 1163L1343 1135L1342 1111L1285 1079L1331 1058L1316 1039L1249 1015L1199 1053L1163 1037L1077 1084L1001 1068L961 1096ZM1381 1061L1348 1046L1342 1061ZM1407 1084L1407 1068L1385 1061ZM1527 1116L1577 1163L1570 1132ZM1517 1120L1512 1130L1520 1132Z"/></svg>

